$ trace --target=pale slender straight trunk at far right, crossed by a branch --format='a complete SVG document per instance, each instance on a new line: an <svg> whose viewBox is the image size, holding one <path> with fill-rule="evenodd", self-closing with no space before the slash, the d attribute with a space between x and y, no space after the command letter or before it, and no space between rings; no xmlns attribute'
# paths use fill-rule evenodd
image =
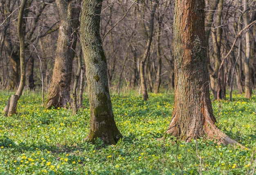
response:
<svg viewBox="0 0 256 175"><path fill-rule="evenodd" d="M243 7L244 7L244 15L243 15L243 23L244 26L249 24L248 20L248 0L243 0ZM244 60L244 67L245 67L245 98L251 98L251 77L250 77L250 52L251 52L251 43L250 43L250 33L249 30L245 33L245 60Z"/></svg>

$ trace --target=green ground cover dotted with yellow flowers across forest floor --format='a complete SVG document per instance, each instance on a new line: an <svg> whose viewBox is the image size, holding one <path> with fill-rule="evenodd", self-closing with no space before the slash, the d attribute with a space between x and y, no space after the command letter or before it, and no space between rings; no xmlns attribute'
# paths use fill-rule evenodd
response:
<svg viewBox="0 0 256 175"><path fill-rule="evenodd" d="M0 93L1 111L8 96ZM233 96L232 102L214 101L213 109L218 127L247 149L203 139L186 144L164 135L172 93L149 94L146 102L135 93L112 95L124 138L116 146L102 146L101 140L95 145L84 141L90 126L88 99L72 115L71 109L45 110L40 94L24 92L18 114L0 114L0 174L256 174L256 96Z"/></svg>

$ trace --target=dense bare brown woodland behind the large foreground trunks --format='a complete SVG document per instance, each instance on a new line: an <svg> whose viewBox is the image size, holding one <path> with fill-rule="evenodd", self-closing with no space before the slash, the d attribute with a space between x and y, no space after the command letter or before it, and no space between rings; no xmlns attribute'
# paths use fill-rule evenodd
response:
<svg viewBox="0 0 256 175"><path fill-rule="evenodd" d="M0 88L16 90L20 79L16 27L19 2L2 0L0 3ZM107 58L110 92L120 93L128 89L142 92L140 64L150 32L153 38L144 63L146 89L157 93L160 87L171 89L174 86L174 2L159 2L155 11L153 31L150 31L152 4L150 0L103 1L100 29ZM244 4L247 4L247 7ZM256 2L253 0L248 3L228 0L206 1L205 30L211 79L209 87L214 99L225 98L226 89L231 93L233 88L236 88L239 94L245 92L247 97L251 96L255 84L256 64L256 25L253 25L256 20L255 6ZM55 1L29 0L24 19L26 87L34 90L42 88L43 85L43 92L47 92L52 80L60 25ZM78 31L79 28L75 30ZM79 41L78 39L75 47L72 75L76 74L78 67ZM74 76L71 78L70 87L73 87ZM85 87L86 85L84 89Z"/></svg>

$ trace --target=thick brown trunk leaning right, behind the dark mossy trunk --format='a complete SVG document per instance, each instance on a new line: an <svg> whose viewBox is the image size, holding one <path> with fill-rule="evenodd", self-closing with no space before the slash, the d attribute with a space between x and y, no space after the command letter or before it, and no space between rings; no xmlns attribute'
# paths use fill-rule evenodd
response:
<svg viewBox="0 0 256 175"><path fill-rule="evenodd" d="M81 0L56 0L61 20L52 82L45 108L66 107L70 103L70 81L79 27Z"/></svg>

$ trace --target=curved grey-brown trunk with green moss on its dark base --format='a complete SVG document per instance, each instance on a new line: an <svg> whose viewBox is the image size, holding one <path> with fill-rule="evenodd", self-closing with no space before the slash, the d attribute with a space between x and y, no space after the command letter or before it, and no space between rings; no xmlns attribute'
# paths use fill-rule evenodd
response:
<svg viewBox="0 0 256 175"><path fill-rule="evenodd" d="M112 111L108 89L107 62L99 32L102 0L83 0L80 40L85 59L90 103L88 141L100 138L104 144L116 144L122 137Z"/></svg>

